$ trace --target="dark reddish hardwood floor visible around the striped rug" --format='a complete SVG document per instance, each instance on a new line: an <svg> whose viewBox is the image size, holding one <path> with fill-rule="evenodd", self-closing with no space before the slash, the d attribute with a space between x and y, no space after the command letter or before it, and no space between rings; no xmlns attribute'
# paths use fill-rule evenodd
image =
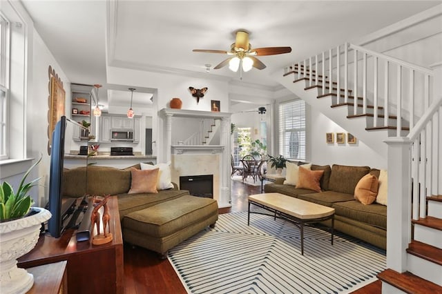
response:
<svg viewBox="0 0 442 294"><path fill-rule="evenodd" d="M247 211L247 196L261 193L261 186L232 181L231 191L232 207L220 208L220 213ZM381 293L380 285L381 282L374 282L353 293ZM168 259L159 259L152 251L124 244L124 293L184 294L186 290Z"/></svg>

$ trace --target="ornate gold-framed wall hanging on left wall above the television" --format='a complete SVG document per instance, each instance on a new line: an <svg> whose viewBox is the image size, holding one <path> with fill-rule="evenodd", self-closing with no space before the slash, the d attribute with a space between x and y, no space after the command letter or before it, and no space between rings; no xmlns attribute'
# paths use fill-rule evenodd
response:
<svg viewBox="0 0 442 294"><path fill-rule="evenodd" d="M55 124L60 120L60 117L64 115L64 99L66 92L63 88L63 82L59 76L55 73L52 66L48 68L48 155L50 155L50 146L52 142L52 132L55 129Z"/></svg>

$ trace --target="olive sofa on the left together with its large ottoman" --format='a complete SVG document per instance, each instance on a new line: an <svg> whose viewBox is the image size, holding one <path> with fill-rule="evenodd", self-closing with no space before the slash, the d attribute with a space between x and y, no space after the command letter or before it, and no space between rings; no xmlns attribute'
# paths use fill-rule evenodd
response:
<svg viewBox="0 0 442 294"><path fill-rule="evenodd" d="M116 195L124 242L142 246L165 257L167 251L218 220L215 199L189 195L173 188L158 193L131 193L131 168L88 166L65 169L64 197ZM87 181L86 181L87 177Z"/></svg>

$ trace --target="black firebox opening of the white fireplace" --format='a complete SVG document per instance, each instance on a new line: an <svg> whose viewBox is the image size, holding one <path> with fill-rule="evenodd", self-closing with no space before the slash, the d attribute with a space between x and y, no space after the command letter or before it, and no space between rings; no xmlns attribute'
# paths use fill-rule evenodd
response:
<svg viewBox="0 0 442 294"><path fill-rule="evenodd" d="M213 198L213 175L180 177L180 190L189 190L193 196Z"/></svg>

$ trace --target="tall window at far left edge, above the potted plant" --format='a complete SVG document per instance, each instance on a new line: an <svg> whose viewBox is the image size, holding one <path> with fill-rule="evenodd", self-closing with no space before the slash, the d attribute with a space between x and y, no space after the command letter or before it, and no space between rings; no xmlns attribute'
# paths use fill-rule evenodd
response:
<svg viewBox="0 0 442 294"><path fill-rule="evenodd" d="M9 23L0 14L0 159L8 158L7 111L9 88Z"/></svg>

